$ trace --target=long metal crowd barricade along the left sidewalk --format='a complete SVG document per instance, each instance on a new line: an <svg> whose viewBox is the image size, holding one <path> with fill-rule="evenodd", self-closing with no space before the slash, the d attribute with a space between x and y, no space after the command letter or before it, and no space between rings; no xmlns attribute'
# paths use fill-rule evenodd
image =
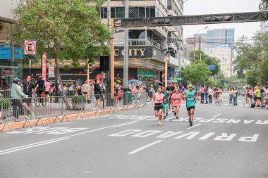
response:
<svg viewBox="0 0 268 178"><path fill-rule="evenodd" d="M18 121L25 121L23 127L30 120L37 119L37 124L43 124L42 118L55 117L54 122L68 120L68 115L76 114L87 117L85 113L90 111L94 115L101 115L103 112L114 113L116 111L128 110L130 106L147 106L145 92L131 94L122 93L121 98L116 94L95 94L89 96L47 96L33 98L0 98L0 124L7 125L14 122L14 117ZM30 112L25 107L30 103ZM76 119L76 118L75 118ZM5 126L4 126L5 127ZM4 127L2 127L4 129ZM30 125L32 127L32 125ZM3 130L0 130L3 131Z"/></svg>

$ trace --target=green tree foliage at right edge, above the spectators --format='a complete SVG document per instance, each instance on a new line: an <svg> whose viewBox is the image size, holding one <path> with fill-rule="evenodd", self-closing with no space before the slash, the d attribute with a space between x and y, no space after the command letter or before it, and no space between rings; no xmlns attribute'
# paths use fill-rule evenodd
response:
<svg viewBox="0 0 268 178"><path fill-rule="evenodd" d="M240 39L236 45L237 58L233 61L233 69L243 80L248 70L255 70L256 76L259 77L258 81L264 85L268 83L268 32L257 33L253 39L253 42L248 42L245 37Z"/></svg>

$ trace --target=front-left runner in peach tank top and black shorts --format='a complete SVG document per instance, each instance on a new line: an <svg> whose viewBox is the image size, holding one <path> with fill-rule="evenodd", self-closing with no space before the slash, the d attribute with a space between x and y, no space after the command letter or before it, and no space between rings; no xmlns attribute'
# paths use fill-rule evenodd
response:
<svg viewBox="0 0 268 178"><path fill-rule="evenodd" d="M152 101L154 102L154 115L158 117L158 125L162 124L162 110L163 110L163 103L164 103L164 94L162 94L162 87L158 87L157 93L154 94L152 97Z"/></svg>

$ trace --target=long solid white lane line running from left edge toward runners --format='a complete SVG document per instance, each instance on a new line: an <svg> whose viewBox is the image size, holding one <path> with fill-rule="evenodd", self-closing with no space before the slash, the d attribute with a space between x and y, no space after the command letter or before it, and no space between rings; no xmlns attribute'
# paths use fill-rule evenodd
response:
<svg viewBox="0 0 268 178"><path fill-rule="evenodd" d="M123 125L135 124L136 122L138 122L138 121L126 122L126 123L123 123L123 124L120 124L120 125L111 125L111 126L102 127L102 128L99 128L99 129L92 129L92 130L89 130L87 132L81 132L81 133L78 133L78 134L62 136L62 137L59 137L57 139L50 139L50 140L46 140L46 141L40 141L40 142L37 142L35 144L28 144L28 145L25 145L25 146L18 146L18 147L14 147L14 148L9 148L9 149L0 151L0 155L4 155L6 153L12 153L12 152L15 152L15 151L20 151L20 150L25 150L25 149L32 148L32 147L35 147L35 146L42 146L42 145L46 145L46 144L52 144L52 143L54 143L56 141L63 141L65 139L70 139L72 136L78 136L78 135L81 135L81 134L87 134L87 133L95 132L95 131L98 131L98 130L101 130L101 129L108 129L108 128L111 128L111 127L121 127Z"/></svg>

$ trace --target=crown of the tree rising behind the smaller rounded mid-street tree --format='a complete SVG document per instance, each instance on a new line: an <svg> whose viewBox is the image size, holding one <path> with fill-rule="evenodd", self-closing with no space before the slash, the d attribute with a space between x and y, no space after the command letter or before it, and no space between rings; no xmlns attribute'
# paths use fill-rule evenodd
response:
<svg viewBox="0 0 268 178"><path fill-rule="evenodd" d="M207 65L215 65L215 70L212 71L212 75L217 75L220 71L220 66L219 66L219 60L217 58L213 58L211 56L208 56L204 51L202 50L195 50L190 52L190 58L194 58L193 62L195 61L203 61Z"/></svg>

